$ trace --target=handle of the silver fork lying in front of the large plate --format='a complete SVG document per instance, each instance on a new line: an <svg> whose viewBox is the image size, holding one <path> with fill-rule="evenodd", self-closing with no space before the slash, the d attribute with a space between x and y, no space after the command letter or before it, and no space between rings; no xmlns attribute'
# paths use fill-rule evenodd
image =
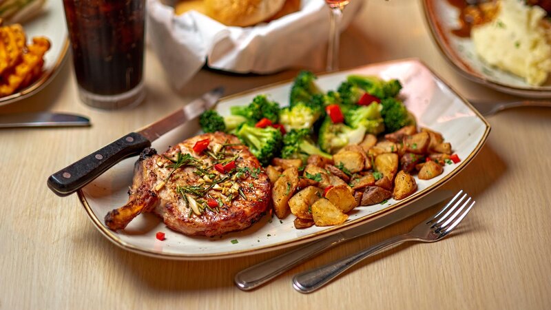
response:
<svg viewBox="0 0 551 310"><path fill-rule="evenodd" d="M346 258L342 258L310 271L299 273L293 278L293 287L301 293L310 293L311 291L315 291L365 258L368 258L369 256L390 247L391 245L396 245L408 240L412 239L407 235L395 236Z"/></svg>

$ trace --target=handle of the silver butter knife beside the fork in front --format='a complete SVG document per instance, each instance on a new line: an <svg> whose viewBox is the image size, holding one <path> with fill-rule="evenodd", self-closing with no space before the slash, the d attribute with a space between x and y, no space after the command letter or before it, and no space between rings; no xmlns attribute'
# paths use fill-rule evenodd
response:
<svg viewBox="0 0 551 310"><path fill-rule="evenodd" d="M343 240L344 238L340 234L336 234L314 241L305 247L299 247L239 271L233 280L239 289L250 291Z"/></svg>

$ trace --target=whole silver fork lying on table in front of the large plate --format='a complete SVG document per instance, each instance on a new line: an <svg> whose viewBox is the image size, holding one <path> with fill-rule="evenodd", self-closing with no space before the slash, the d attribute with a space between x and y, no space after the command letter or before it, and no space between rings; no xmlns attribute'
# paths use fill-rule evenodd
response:
<svg viewBox="0 0 551 310"><path fill-rule="evenodd" d="M410 232L404 235L395 236L383 242L368 247L346 258L342 258L328 265L299 273L293 278L293 287L301 293L310 293L326 285L340 273L361 262L365 258L376 254L391 245L397 245L406 241L435 242L441 240L452 231L465 218L468 211L475 205L475 201L461 192L457 193L444 208L435 216L431 216L419 225L413 227ZM461 198L459 198L461 196ZM459 200L457 200L459 198ZM465 200L465 198L467 198ZM457 200L457 201L456 201ZM461 203L465 200L463 205ZM459 207L461 205L461 207Z"/></svg>

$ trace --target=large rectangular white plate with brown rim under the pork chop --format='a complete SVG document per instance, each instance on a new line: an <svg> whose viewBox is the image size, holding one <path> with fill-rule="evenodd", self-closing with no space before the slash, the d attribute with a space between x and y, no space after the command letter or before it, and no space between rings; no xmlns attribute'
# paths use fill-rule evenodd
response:
<svg viewBox="0 0 551 310"><path fill-rule="evenodd" d="M127 201L127 190L132 183L133 166L136 161L136 158L129 158L118 163L79 191L79 198L88 216L107 239L139 254L183 260L256 254L329 236L391 214L444 184L466 167L484 145L490 132L488 122L421 62L415 59L393 61L323 74L318 79L318 85L324 90L335 90L349 74L370 74L381 76L383 79L399 79L404 85L400 94L404 97L408 110L417 117L418 125L441 132L446 141L451 143L461 162L446 165L444 173L431 180L416 178L419 189L404 200L391 199L384 205L355 208L349 220L342 225L295 229L293 226L295 216L290 215L283 220L275 216L264 216L259 223L244 231L222 237L205 238L185 236L171 231L165 227L160 218L153 214L142 214L136 217L123 231L115 232L105 227L103 223L105 214L124 205ZM222 114L229 114L229 107L246 105L258 94L268 94L281 105L287 105L290 87L289 81L236 94L222 99L217 110ZM159 138L155 141L154 147L159 152L164 152L169 145L174 145L198 133L198 122L190 122ZM166 240L156 240L155 234L158 231L166 234Z"/></svg>

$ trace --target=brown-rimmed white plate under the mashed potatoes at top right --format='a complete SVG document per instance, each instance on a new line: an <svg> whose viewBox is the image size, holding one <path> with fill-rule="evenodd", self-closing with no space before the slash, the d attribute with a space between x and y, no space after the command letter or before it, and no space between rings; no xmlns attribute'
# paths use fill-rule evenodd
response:
<svg viewBox="0 0 551 310"><path fill-rule="evenodd" d="M551 97L551 79L541 86L530 85L520 76L481 61L470 38L457 37L452 33L460 26L459 10L448 0L423 0L423 7L426 21L441 53L467 79L517 96Z"/></svg>

